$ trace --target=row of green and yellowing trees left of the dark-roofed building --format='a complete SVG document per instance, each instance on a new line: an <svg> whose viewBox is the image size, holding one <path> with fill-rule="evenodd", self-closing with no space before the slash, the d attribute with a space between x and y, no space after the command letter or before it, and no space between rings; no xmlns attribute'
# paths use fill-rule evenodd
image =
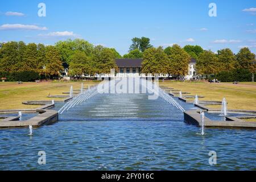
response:
<svg viewBox="0 0 256 182"><path fill-rule="evenodd" d="M69 76L109 73L111 68L117 69L115 59L120 57L114 48L93 46L82 39L60 41L54 46L7 42L0 48L0 77L33 75L52 79L58 78L67 67Z"/></svg>

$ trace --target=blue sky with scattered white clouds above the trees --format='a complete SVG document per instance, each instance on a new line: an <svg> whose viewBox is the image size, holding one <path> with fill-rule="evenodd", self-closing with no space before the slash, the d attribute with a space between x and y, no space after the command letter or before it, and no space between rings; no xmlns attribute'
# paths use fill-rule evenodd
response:
<svg viewBox="0 0 256 182"><path fill-rule="evenodd" d="M46 17L38 4L46 4ZM209 3L217 17L210 17ZM126 53L133 37L146 36L153 46L200 45L235 53L247 46L256 53L255 0L9 0L0 2L0 42L54 44L82 38Z"/></svg>

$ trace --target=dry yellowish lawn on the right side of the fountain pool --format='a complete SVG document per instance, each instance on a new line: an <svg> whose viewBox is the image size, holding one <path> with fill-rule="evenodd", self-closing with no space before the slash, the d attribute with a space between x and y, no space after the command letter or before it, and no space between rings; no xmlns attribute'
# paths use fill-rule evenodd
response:
<svg viewBox="0 0 256 182"><path fill-rule="evenodd" d="M252 82L241 82L238 85L233 85L232 83L210 84L208 82L164 81L160 82L159 85L190 92L191 94L188 95L205 96L205 98L199 98L199 100L222 101L222 98L225 97L228 101L228 109L256 110L256 84Z"/></svg>

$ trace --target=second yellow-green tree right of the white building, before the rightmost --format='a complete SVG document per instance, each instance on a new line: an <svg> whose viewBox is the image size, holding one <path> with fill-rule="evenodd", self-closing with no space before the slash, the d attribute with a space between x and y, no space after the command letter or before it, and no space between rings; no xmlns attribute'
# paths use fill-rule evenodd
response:
<svg viewBox="0 0 256 182"><path fill-rule="evenodd" d="M218 61L221 71L233 71L237 66L236 57L229 48L218 51Z"/></svg>

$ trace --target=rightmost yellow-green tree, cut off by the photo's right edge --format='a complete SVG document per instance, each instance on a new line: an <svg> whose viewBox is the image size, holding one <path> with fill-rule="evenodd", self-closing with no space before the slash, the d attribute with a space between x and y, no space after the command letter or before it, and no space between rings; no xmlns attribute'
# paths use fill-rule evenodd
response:
<svg viewBox="0 0 256 182"><path fill-rule="evenodd" d="M249 69L252 73L256 71L255 54L249 48L241 48L236 55L236 59L240 68Z"/></svg>

